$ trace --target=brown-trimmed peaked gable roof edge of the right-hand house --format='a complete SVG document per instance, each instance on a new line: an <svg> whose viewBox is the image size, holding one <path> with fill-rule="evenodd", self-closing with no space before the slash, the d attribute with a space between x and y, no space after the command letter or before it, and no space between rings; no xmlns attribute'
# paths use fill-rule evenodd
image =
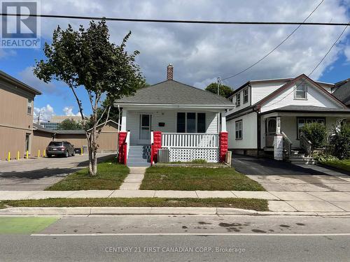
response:
<svg viewBox="0 0 350 262"><path fill-rule="evenodd" d="M296 78L294 78L293 80L291 80L290 82L287 82L286 84L282 85L281 87L279 87L279 89L276 89L274 92L272 92L271 94L269 94L268 96L265 96L263 99L261 99L260 101L258 101L257 103L255 103L255 106L257 108L261 108L262 103L265 103L266 101L268 101L269 99L272 99L273 97L275 97L276 95L280 94L281 92L283 92L284 90L286 90L288 87L291 87L293 85L295 85L295 83L298 80L301 80L302 78L305 78L306 80L308 80L309 82L311 82L311 84L313 84L316 88L318 88L321 92L323 92L323 94L325 94L326 96L328 96L330 99L332 99L333 101L337 102L339 105L341 105L343 108L346 108L346 105L344 105L344 103L342 103L342 101L340 101L339 99L337 99L335 96L333 96L332 94L330 94L330 92L328 92L327 90L325 90L323 87L321 87L321 85L319 85L317 82L315 82L314 80L312 80L311 78L309 78L307 75L305 74L301 74L299 76L297 76Z"/></svg>

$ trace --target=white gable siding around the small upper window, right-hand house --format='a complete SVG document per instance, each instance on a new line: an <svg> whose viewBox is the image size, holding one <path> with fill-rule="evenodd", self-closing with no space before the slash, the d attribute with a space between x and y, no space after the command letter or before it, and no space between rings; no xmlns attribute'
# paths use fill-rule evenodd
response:
<svg viewBox="0 0 350 262"><path fill-rule="evenodd" d="M261 112L281 108L286 105L314 105L325 108L341 108L340 105L313 85L307 84L307 99L294 99L294 89L295 85L263 103Z"/></svg>

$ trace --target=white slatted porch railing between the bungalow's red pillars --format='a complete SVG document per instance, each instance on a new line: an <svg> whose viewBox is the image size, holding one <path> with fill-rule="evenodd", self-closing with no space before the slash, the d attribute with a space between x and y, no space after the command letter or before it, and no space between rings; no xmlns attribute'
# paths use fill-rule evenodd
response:
<svg viewBox="0 0 350 262"><path fill-rule="evenodd" d="M162 147L216 149L218 137L218 133L162 133Z"/></svg>

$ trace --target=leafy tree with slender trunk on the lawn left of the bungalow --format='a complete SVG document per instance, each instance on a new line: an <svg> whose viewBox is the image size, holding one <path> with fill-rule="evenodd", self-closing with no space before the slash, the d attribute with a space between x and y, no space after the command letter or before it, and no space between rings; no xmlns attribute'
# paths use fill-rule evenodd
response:
<svg viewBox="0 0 350 262"><path fill-rule="evenodd" d="M102 124L104 115L109 119L111 101L125 95L132 95L145 80L135 58L138 51L128 53L126 43L129 32L120 45L111 43L106 21L90 22L90 27L80 26L74 30L71 25L62 30L57 27L53 32L52 43L45 43L47 59L36 61L34 74L44 82L52 79L64 82L78 104L89 151L89 173L97 174L97 125ZM83 114L83 105L76 89L85 88L89 97L92 114L87 121ZM102 96L109 101L109 106L101 115L97 115ZM92 129L87 132L92 124ZM104 122L104 125L106 121Z"/></svg>

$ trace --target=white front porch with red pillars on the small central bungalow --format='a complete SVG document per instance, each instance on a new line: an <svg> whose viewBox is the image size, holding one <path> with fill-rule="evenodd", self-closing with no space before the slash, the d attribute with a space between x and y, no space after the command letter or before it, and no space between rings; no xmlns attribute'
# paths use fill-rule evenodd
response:
<svg viewBox="0 0 350 262"><path fill-rule="evenodd" d="M216 163L223 160L223 151L227 152L225 110L220 108L139 106L123 108L120 119L128 164L132 161L129 152L134 154L135 148L143 150L142 156L150 163L197 159Z"/></svg>

